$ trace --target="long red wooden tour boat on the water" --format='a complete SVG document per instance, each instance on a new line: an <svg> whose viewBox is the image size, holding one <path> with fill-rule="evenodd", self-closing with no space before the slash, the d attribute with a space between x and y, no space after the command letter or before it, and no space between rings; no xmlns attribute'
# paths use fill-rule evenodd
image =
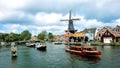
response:
<svg viewBox="0 0 120 68"><path fill-rule="evenodd" d="M97 51L95 47L92 46L66 46L66 51L81 55L81 56L90 56L90 57L101 57L102 53Z"/></svg>

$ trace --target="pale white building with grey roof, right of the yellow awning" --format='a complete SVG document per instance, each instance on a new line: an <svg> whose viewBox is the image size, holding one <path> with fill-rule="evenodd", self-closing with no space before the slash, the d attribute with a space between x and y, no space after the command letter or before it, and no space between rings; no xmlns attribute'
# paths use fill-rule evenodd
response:
<svg viewBox="0 0 120 68"><path fill-rule="evenodd" d="M86 34L86 36L88 37L88 41L91 41L91 40L94 40L95 31L96 31L96 28L89 28L89 29L86 28L81 32Z"/></svg>

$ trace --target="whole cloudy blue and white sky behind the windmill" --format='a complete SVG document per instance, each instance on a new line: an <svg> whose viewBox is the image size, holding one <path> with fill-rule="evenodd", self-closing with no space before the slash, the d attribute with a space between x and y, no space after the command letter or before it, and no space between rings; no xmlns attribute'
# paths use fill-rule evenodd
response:
<svg viewBox="0 0 120 68"><path fill-rule="evenodd" d="M70 10L78 31L120 25L120 0L0 0L0 32L64 34Z"/></svg>

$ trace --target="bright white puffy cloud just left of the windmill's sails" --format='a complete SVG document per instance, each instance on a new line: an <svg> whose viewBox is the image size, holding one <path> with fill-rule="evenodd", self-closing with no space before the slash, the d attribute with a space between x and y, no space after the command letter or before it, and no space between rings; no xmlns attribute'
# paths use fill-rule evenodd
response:
<svg viewBox="0 0 120 68"><path fill-rule="evenodd" d="M57 14L57 13L43 13L43 12L39 12L35 15L35 19L34 22L36 24L43 24L43 25L53 25L56 24L56 22L59 22L59 20L61 19L62 15L61 14Z"/></svg>

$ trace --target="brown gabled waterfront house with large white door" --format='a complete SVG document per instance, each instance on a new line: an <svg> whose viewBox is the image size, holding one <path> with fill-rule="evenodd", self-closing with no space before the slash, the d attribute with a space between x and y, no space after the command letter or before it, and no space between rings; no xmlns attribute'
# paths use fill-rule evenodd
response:
<svg viewBox="0 0 120 68"><path fill-rule="evenodd" d="M102 43L120 42L120 34L108 27L103 27L97 32L95 39Z"/></svg>

